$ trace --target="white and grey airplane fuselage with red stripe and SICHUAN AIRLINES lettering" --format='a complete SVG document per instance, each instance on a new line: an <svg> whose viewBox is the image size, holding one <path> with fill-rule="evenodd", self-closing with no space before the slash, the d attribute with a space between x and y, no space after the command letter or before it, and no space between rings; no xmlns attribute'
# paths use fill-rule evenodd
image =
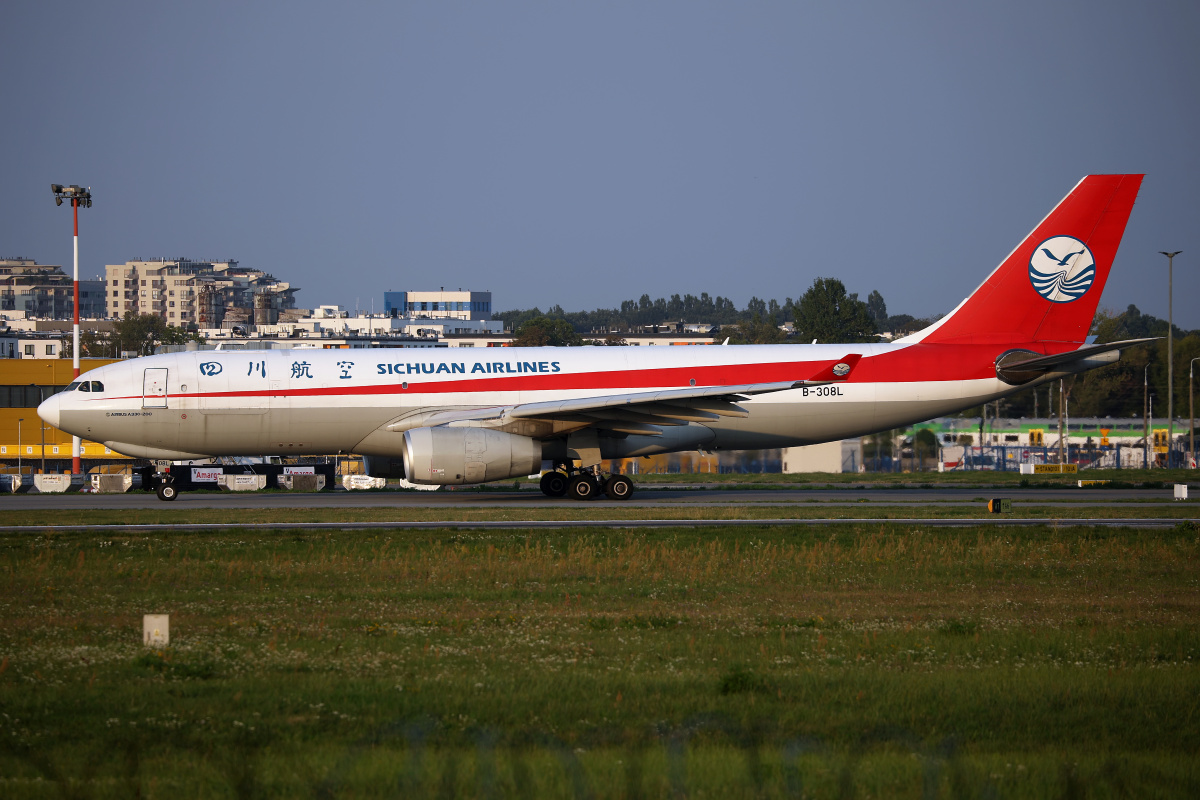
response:
<svg viewBox="0 0 1200 800"><path fill-rule="evenodd" d="M131 456L389 456L431 411L689 386L808 380L854 353L844 383L742 401L749 415L628 435L605 457L829 441L1015 391L1002 348L916 344L188 351L88 372L102 391L55 395L43 419ZM406 420L410 420L406 423ZM534 431L551 439L565 432ZM547 455L550 457L550 455Z"/></svg>

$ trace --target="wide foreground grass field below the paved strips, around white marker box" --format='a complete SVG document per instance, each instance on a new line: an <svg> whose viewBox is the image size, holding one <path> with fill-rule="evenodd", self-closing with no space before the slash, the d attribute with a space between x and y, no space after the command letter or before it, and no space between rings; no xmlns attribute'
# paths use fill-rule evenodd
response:
<svg viewBox="0 0 1200 800"><path fill-rule="evenodd" d="M1188 525L0 533L0 795L1195 796L1198 555Z"/></svg>

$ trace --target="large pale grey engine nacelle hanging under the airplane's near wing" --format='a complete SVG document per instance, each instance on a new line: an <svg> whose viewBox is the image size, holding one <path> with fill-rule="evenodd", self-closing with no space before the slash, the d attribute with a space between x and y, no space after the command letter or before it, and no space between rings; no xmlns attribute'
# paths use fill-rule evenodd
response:
<svg viewBox="0 0 1200 800"><path fill-rule="evenodd" d="M414 483L486 483L541 471L541 443L488 428L404 432L404 474Z"/></svg>

